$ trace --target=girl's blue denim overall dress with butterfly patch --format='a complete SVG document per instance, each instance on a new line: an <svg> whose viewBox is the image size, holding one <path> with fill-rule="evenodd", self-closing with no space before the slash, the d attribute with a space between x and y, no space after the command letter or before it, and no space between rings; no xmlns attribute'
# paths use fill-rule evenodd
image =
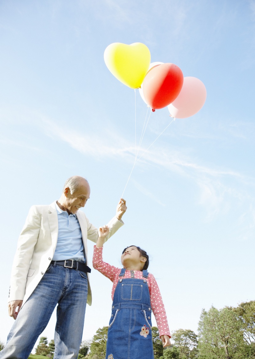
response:
<svg viewBox="0 0 255 359"><path fill-rule="evenodd" d="M124 275L125 268L113 295L106 359L153 359L148 271L143 270L143 279L134 278L134 271L131 278Z"/></svg>

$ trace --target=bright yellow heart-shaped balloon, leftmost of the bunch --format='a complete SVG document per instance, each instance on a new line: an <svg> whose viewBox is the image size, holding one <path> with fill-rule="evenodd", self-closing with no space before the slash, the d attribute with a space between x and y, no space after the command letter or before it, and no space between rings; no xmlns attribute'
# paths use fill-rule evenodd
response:
<svg viewBox="0 0 255 359"><path fill-rule="evenodd" d="M103 55L113 76L133 89L139 88L150 65L150 51L141 42L131 45L114 42Z"/></svg>

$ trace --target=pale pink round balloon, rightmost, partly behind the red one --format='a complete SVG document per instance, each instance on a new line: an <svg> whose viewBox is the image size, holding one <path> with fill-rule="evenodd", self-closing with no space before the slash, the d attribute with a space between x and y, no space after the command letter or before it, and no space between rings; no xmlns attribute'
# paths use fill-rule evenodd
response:
<svg viewBox="0 0 255 359"><path fill-rule="evenodd" d="M206 88L203 82L187 76L183 79L181 92L167 108L172 117L186 118L195 115L204 106L205 100Z"/></svg>

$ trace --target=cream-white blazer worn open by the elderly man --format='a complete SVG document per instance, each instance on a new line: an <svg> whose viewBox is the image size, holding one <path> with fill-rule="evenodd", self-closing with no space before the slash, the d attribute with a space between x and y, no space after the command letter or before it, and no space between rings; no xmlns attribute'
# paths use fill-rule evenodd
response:
<svg viewBox="0 0 255 359"><path fill-rule="evenodd" d="M24 305L50 265L56 249L59 230L55 203L53 202L51 205L35 205L29 210L14 256L8 302L11 300L23 300L22 305ZM76 215L82 231L87 265L89 265L87 239L96 243L98 229L89 223L84 212L78 211ZM113 217L108 223L110 233L105 241L123 224L122 220L119 221L117 217ZM88 275L87 303L91 306L91 302L92 295Z"/></svg>

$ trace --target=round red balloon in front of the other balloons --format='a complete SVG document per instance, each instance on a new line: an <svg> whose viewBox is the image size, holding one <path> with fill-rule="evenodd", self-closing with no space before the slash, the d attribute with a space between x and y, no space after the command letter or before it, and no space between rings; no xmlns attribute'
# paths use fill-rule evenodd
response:
<svg viewBox="0 0 255 359"><path fill-rule="evenodd" d="M151 108L159 109L173 102L181 91L183 74L175 64L162 64L148 71L143 94Z"/></svg>

